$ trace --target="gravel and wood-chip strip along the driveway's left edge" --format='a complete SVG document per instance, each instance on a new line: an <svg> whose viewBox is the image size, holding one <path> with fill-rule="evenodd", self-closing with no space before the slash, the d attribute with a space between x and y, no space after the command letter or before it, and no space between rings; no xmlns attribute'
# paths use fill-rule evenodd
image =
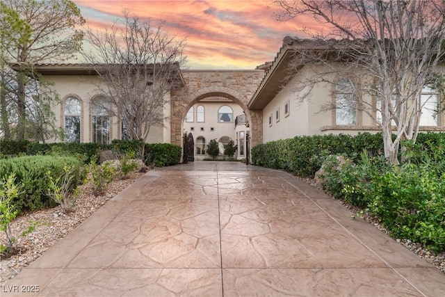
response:
<svg viewBox="0 0 445 297"><path fill-rule="evenodd" d="M115 179L106 188L104 195L92 195L92 185L84 184L80 187L80 195L76 200L74 211L64 214L60 207L33 211L17 217L10 224L15 236L15 255L0 260L0 283L14 278L22 268L28 266L40 257L45 250L54 246L59 239L70 233L77 225L91 216L108 200L127 188L142 176L141 172L132 172L127 179ZM0 234L0 241L4 243L6 236Z"/></svg>

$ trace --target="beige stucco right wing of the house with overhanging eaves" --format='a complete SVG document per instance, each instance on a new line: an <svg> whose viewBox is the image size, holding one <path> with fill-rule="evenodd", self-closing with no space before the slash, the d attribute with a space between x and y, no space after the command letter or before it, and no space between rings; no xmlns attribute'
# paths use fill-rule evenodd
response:
<svg viewBox="0 0 445 297"><path fill-rule="evenodd" d="M296 51L302 49L316 51L318 45L310 40L284 38L275 60L267 65L264 79L250 99L248 108L262 113L263 143L294 136L381 131L377 124L381 118L377 98L361 94L361 106L355 109L341 104L352 91L344 88L342 81L332 83L336 80L336 74L329 74L332 69L323 70L323 65L292 64ZM298 71L291 72L295 69ZM308 92L305 83L314 72L325 73L325 82L316 83ZM423 88L421 98L425 105L419 131L445 131L444 113L437 114L437 107L442 106L441 96L437 91Z"/></svg>

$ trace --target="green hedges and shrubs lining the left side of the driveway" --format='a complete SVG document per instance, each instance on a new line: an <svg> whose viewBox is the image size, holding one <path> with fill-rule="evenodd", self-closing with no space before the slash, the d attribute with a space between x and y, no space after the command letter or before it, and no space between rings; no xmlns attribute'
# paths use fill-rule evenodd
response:
<svg viewBox="0 0 445 297"><path fill-rule="evenodd" d="M31 224L22 237L13 234L10 225L17 217L56 206L60 206L60 214L70 216L81 194L78 186L88 184L92 195L106 195L115 177L127 179L140 169L141 163L135 159L162 167L175 165L181 158L177 145L142 141L113 141L111 145L1 141L0 145L0 231L5 234L0 243L2 257L20 252L23 247L15 247L17 239L35 230L36 225ZM113 152L118 159L99 164L103 150Z"/></svg>

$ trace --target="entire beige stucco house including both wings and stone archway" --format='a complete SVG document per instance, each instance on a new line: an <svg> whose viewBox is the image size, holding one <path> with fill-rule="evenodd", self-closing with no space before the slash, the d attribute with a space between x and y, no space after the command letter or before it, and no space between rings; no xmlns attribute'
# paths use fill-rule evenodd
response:
<svg viewBox="0 0 445 297"><path fill-rule="evenodd" d="M148 143L188 145L188 156L208 158L206 147L215 139L223 156L224 145L234 141L236 158L245 158L250 147L294 136L357 134L381 131L380 101L373 93L360 93L359 104L346 104L353 95L348 82L329 72L326 65L295 64L296 52L316 53L311 40L286 37L275 60L256 70L180 70L174 79L183 93L170 90L163 108L163 125L152 127ZM338 63L335 61L334 63ZM327 69L323 69L327 67ZM444 67L445 65L442 65ZM106 94L93 65L35 65L44 79L54 83L61 102L54 109L56 125L65 130L65 141L110 143L127 138L119 116L108 115ZM296 70L296 71L295 71ZM308 88L314 73L323 74ZM354 73L357 81L365 74ZM420 131L445 131L445 116L437 113L443 94L424 87ZM184 137L184 134L187 136ZM56 140L49 140L56 141Z"/></svg>

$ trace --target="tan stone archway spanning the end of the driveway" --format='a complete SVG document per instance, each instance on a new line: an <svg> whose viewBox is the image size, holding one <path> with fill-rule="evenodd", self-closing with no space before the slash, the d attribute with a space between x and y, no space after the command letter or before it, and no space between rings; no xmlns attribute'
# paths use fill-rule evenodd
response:
<svg viewBox="0 0 445 297"><path fill-rule="evenodd" d="M186 87L177 91L171 101L171 143L182 145L182 129L188 109L206 97L226 97L239 104L250 123L251 144L263 143L263 115L250 111L248 102L257 90L263 70L184 70Z"/></svg>

